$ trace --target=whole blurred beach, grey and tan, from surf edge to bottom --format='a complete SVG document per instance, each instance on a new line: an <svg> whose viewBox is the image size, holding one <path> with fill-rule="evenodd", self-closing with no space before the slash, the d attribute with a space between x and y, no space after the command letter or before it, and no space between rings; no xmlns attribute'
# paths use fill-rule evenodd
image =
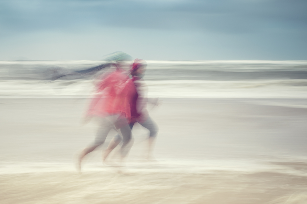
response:
<svg viewBox="0 0 307 204"><path fill-rule="evenodd" d="M127 175L103 167L97 153L79 175L72 155L91 142L96 127L80 127L84 99L1 103L1 204L307 202L304 108L165 99L151 115L160 128L155 156L168 165L129 163L145 138L135 129ZM189 160L202 164L194 168Z"/></svg>

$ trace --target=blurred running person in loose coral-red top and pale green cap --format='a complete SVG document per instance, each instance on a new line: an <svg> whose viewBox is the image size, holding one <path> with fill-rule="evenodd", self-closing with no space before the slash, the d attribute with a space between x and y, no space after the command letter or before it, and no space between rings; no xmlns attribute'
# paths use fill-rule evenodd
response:
<svg viewBox="0 0 307 204"><path fill-rule="evenodd" d="M78 157L77 169L80 172L84 156L103 144L111 129L119 130L122 135L121 161L129 151L127 144L131 139L130 100L136 93L129 72L123 69L129 59L130 56L125 53L113 53L108 60L116 61L112 64L116 70L103 74L96 80L96 95L91 100L85 121L89 121L92 117L98 117L100 127L94 143L84 148Z"/></svg>

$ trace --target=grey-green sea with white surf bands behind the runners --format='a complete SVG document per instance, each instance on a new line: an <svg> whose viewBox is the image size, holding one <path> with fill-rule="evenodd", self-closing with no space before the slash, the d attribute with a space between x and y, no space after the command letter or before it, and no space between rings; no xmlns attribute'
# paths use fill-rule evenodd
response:
<svg viewBox="0 0 307 204"><path fill-rule="evenodd" d="M1 61L2 97L88 97L91 77L45 80L46 70L80 70L103 61ZM149 97L306 98L306 61L147 61Z"/></svg>

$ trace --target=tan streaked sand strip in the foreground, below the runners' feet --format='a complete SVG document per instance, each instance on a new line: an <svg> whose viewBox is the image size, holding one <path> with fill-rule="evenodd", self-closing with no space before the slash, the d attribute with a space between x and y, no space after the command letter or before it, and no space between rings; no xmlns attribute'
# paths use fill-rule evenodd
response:
<svg viewBox="0 0 307 204"><path fill-rule="evenodd" d="M1 179L3 204L306 203L305 176L272 172L52 172L2 175Z"/></svg>

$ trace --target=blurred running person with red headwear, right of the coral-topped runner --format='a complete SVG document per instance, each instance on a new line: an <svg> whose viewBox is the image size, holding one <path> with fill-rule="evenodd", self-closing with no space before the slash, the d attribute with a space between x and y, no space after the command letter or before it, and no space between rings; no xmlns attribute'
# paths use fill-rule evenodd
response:
<svg viewBox="0 0 307 204"><path fill-rule="evenodd" d="M138 122L144 128L150 131L148 138L148 152L147 159L154 160L152 156L153 142L158 133L158 127L156 123L151 119L147 111L147 86L144 82L143 76L146 71L147 63L141 59L135 59L131 66L130 72L132 76L132 81L135 86L135 94L130 98L130 111L131 111L131 121L130 128L132 129L134 124ZM157 105L157 100L152 101L153 104ZM121 142L124 141L121 135L116 135L109 143L107 150L103 154L103 162L105 162L111 151Z"/></svg>

